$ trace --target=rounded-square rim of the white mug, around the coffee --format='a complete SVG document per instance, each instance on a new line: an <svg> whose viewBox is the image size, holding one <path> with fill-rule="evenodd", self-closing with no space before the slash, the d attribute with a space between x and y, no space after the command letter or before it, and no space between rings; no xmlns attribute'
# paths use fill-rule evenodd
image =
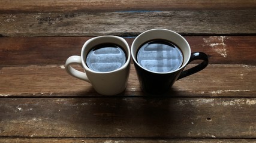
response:
<svg viewBox="0 0 256 143"><path fill-rule="evenodd" d="M87 46L89 43L91 43L92 41L95 41L96 39L103 39L103 38L118 39L119 41L121 41L122 43L124 43L124 45L126 46L126 47L123 47L123 46L121 46L121 47L122 47L122 48L125 48L125 49L123 49L123 50L125 51L125 53L126 53L126 55L127 55L127 60L125 61L125 63L124 63L121 67L119 67L119 68L116 69L116 70L112 70L112 71L95 71L95 70L90 69L90 68L86 65L86 63L85 63L85 58L86 58L85 55L88 54L88 53L84 54L85 49L86 49L86 46ZM102 43L106 43L106 42L102 42ZM110 43L114 43L114 44L115 44L115 42L110 42ZM98 44L101 44L101 43L98 43ZM97 44L97 45L98 45L98 44ZM116 43L116 44L117 44L117 43ZM88 51L91 51L92 48L93 48L93 47L90 47L90 49L89 49ZM125 69L125 67L128 66L129 61L131 60L131 51L130 51L130 49L129 49L129 45L128 45L127 41L125 41L124 38L121 38L121 37L119 37L119 36L114 36L114 35L97 36L97 37L94 37L94 38L89 39L88 41L86 41L86 42L83 44L82 51L81 51L81 60L82 60L83 69L85 69L86 71L90 71L91 73L101 73L101 74L102 74L102 73L114 73L114 72L116 72L116 71L123 70L123 69Z"/></svg>

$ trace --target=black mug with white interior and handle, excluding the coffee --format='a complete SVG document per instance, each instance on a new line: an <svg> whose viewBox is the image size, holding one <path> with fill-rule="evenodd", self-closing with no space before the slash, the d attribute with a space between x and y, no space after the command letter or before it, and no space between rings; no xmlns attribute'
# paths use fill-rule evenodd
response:
<svg viewBox="0 0 256 143"><path fill-rule="evenodd" d="M150 71L138 63L137 52L141 45L154 39L170 41L179 47L183 54L183 63L178 69L168 72L156 72ZM167 29L147 30L138 35L137 38L134 39L134 42L132 42L131 55L141 89L147 94L164 94L171 88L176 80L197 73L207 67L208 64L208 57L206 54L203 52L191 53L191 48L186 39L178 33ZM203 61L197 66L183 71L185 67L194 60Z"/></svg>

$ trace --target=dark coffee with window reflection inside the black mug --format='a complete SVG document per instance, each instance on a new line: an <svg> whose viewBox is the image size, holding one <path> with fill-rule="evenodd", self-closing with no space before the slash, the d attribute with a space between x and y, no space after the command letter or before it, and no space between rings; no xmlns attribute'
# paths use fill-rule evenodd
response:
<svg viewBox="0 0 256 143"><path fill-rule="evenodd" d="M137 61L147 70L166 73L182 66L183 54L174 43L155 39L141 45Z"/></svg>

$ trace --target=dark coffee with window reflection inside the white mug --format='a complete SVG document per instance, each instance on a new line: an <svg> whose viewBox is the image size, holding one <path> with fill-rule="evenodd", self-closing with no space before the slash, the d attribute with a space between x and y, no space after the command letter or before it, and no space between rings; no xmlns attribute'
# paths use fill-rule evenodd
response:
<svg viewBox="0 0 256 143"><path fill-rule="evenodd" d="M108 72L119 69L127 60L121 46L113 43L102 43L94 46L86 57L89 69L99 72Z"/></svg>

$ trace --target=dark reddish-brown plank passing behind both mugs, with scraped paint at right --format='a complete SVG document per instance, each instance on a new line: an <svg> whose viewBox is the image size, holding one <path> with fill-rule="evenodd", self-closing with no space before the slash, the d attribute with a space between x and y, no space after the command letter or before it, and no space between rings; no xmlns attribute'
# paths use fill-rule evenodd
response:
<svg viewBox="0 0 256 143"><path fill-rule="evenodd" d="M64 64L80 55L91 37L0 38L0 65ZM191 51L209 55L210 64L256 65L256 36L185 36ZM131 46L134 38L125 38Z"/></svg>

